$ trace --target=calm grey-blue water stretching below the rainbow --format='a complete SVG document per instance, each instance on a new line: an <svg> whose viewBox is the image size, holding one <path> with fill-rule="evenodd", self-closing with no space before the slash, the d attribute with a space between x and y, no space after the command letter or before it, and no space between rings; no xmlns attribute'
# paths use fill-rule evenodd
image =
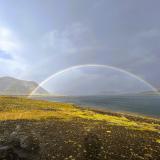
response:
<svg viewBox="0 0 160 160"><path fill-rule="evenodd" d="M160 117L159 95L130 96L85 96L85 97L41 97L49 101L69 102L83 106L106 108Z"/></svg>

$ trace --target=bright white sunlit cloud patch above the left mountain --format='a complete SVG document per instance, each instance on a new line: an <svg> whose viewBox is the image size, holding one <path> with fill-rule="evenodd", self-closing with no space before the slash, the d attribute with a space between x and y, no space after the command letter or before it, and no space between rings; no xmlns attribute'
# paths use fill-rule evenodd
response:
<svg viewBox="0 0 160 160"><path fill-rule="evenodd" d="M22 60L22 43L8 28L0 27L0 75L21 77L25 64Z"/></svg>

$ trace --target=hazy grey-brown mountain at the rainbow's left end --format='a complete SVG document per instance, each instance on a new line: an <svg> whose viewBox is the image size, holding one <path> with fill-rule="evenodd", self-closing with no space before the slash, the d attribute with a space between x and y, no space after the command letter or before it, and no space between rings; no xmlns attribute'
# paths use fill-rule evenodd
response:
<svg viewBox="0 0 160 160"><path fill-rule="evenodd" d="M0 77L0 95L29 95L36 87L38 87L38 84L33 81ZM40 87L36 94L44 95L48 92Z"/></svg>

